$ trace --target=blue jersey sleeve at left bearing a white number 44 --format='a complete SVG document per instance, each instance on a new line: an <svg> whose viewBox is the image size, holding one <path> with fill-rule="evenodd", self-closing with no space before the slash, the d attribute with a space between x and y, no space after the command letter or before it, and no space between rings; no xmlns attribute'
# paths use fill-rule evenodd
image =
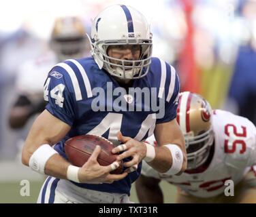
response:
<svg viewBox="0 0 256 217"><path fill-rule="evenodd" d="M52 68L44 83L44 100L49 102L46 109L68 125L72 125L76 118L74 87L71 84L69 74L60 66Z"/></svg>

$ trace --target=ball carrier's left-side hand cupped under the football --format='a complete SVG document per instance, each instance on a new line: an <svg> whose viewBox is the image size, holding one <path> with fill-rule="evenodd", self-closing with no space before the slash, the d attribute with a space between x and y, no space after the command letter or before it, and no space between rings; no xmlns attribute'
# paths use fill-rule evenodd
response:
<svg viewBox="0 0 256 217"><path fill-rule="evenodd" d="M104 182L111 184L112 182L121 180L127 176L127 172L124 172L123 174L110 174L110 172L120 165L121 161L117 161L118 164L116 164L115 161L111 165L99 165L97 157L100 152L101 147L97 145L88 161L80 167L78 171L78 178L80 182L91 184L101 184Z"/></svg>

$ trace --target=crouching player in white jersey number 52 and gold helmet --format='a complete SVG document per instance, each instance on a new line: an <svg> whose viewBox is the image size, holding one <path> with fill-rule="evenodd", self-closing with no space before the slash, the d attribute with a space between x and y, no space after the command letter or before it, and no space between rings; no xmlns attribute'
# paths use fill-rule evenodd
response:
<svg viewBox="0 0 256 217"><path fill-rule="evenodd" d="M177 186L177 203L256 203L255 125L227 111L212 111L191 92L180 94L176 119L185 136L187 170L163 176L143 162L136 181L140 202L162 203L159 182L165 180ZM154 136L147 142L157 145Z"/></svg>

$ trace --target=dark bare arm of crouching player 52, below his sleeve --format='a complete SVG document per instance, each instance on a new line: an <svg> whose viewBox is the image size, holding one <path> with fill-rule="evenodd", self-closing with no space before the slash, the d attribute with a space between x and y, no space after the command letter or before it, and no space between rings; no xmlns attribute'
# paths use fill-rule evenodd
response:
<svg viewBox="0 0 256 217"><path fill-rule="evenodd" d="M163 203L160 180L140 175L135 182L135 189L140 203Z"/></svg>

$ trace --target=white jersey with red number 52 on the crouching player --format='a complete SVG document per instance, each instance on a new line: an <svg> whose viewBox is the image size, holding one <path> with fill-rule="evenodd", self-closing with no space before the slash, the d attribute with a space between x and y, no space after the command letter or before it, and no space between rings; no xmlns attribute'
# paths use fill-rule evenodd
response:
<svg viewBox="0 0 256 217"><path fill-rule="evenodd" d="M223 193L226 180L233 180L234 184L240 182L256 164L256 127L244 117L221 110L213 112L212 125L214 147L207 167L186 170L180 176L161 176L143 162L142 174L166 180L195 197ZM147 141L153 144L154 139Z"/></svg>

